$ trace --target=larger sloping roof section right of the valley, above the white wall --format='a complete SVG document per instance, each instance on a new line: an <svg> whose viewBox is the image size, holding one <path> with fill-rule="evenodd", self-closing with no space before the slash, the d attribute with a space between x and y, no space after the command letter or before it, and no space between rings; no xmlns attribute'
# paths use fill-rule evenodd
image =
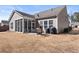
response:
<svg viewBox="0 0 79 59"><path fill-rule="evenodd" d="M53 16L58 16L59 13L63 10L63 8L65 8L66 6L62 6L62 7L57 7L57 8L51 8L49 10L46 11L42 11L39 13L35 14L35 18L36 19L40 19L40 18L45 18L45 17L53 17ZM39 15L39 16L38 16Z"/></svg>

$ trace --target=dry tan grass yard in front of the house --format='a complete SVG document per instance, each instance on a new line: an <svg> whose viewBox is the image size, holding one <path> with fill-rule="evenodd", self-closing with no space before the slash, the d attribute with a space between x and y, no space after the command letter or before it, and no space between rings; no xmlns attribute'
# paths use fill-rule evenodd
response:
<svg viewBox="0 0 79 59"><path fill-rule="evenodd" d="M78 29L74 29L70 34L46 36L31 33L0 32L0 52L79 52L78 33Z"/></svg>

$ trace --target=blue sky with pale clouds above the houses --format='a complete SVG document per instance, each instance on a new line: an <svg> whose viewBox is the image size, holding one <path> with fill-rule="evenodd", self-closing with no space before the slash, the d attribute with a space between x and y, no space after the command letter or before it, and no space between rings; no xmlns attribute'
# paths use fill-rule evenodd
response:
<svg viewBox="0 0 79 59"><path fill-rule="evenodd" d="M61 5L0 5L0 21L8 20L13 10L34 14L60 6ZM72 15L74 12L79 12L79 5L67 5L67 13Z"/></svg>

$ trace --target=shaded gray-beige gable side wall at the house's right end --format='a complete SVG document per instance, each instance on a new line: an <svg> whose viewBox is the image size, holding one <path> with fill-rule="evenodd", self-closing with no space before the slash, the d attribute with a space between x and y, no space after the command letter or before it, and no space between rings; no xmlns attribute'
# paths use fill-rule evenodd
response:
<svg viewBox="0 0 79 59"><path fill-rule="evenodd" d="M67 9L66 7L62 9L60 14L58 15L58 31L63 32L64 28L69 27L69 21L67 17Z"/></svg>

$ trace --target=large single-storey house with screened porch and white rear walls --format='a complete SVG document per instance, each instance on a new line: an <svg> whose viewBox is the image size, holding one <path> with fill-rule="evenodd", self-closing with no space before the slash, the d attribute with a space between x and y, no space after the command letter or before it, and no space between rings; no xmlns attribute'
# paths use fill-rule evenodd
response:
<svg viewBox="0 0 79 59"><path fill-rule="evenodd" d="M69 27L66 6L51 8L34 15L14 10L9 18L10 31L36 32L39 26L43 33L51 27L56 28L57 33L63 32L64 28Z"/></svg>

